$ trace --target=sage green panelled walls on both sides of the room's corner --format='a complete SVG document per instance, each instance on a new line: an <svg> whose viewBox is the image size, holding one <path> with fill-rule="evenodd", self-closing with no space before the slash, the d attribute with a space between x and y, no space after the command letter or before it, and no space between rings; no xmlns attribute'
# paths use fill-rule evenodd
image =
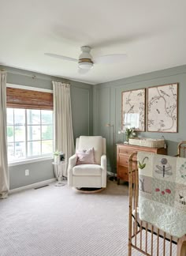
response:
<svg viewBox="0 0 186 256"><path fill-rule="evenodd" d="M7 71L7 82L16 85L51 89L51 81L67 81L60 77L51 77L41 73L13 69L6 66L0 66L0 68ZM186 66L145 73L136 77L128 77L99 85L87 85L70 81L72 85L71 96L74 137L92 134L106 137L108 156L107 170L112 171L110 166L113 164L113 142L117 143L123 141L121 135L117 134L117 131L121 130L121 92L135 88L148 88L154 85L165 85L176 82L179 83L178 133L160 134L145 132L140 134L143 137L152 138L160 138L163 135L167 141L168 154L171 156L175 155L177 153L177 143L186 140L186 119L184 114L186 108ZM106 127L106 123L114 125L114 141L112 127ZM116 149L116 147L114 147L114 149ZM116 160L116 157L114 160ZM25 169L30 170L29 176L24 175ZM10 189L54 178L51 160L10 167L9 173Z"/></svg>

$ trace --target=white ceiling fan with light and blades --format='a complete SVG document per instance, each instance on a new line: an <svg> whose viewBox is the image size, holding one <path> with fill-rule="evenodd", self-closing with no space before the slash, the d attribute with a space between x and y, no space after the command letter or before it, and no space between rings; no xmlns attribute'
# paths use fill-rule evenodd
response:
<svg viewBox="0 0 186 256"><path fill-rule="evenodd" d="M79 73L87 73L91 68L100 63L108 64L108 63L117 63L122 62L125 60L126 56L125 54L115 54L115 55L102 55L99 57L92 58L91 56L91 47L89 46L83 46L80 47L82 53L80 54L80 57L78 59L76 58L70 58L63 55L55 55L51 53L45 53L45 55L54 57L54 58L61 58L66 61L70 62L78 62L78 71Z"/></svg>

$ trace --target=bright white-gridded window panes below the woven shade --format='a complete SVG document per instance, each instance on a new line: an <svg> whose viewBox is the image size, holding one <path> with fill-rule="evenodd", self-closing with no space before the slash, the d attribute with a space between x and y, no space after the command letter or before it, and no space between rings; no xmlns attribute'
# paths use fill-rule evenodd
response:
<svg viewBox="0 0 186 256"><path fill-rule="evenodd" d="M7 108L9 162L53 152L53 111Z"/></svg>

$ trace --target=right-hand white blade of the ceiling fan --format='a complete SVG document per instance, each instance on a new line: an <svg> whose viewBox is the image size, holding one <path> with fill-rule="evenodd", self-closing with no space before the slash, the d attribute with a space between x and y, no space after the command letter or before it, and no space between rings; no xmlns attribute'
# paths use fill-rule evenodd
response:
<svg viewBox="0 0 186 256"><path fill-rule="evenodd" d="M127 58L127 55L118 54L118 55L103 55L100 57L94 58L95 64L112 64L118 62L124 62Z"/></svg>

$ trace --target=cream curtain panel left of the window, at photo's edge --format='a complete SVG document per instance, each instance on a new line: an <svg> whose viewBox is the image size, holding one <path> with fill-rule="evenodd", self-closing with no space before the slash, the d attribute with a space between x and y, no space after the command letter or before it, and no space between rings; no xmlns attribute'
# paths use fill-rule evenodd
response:
<svg viewBox="0 0 186 256"><path fill-rule="evenodd" d="M0 198L9 192L9 169L6 148L6 71L0 71Z"/></svg>

